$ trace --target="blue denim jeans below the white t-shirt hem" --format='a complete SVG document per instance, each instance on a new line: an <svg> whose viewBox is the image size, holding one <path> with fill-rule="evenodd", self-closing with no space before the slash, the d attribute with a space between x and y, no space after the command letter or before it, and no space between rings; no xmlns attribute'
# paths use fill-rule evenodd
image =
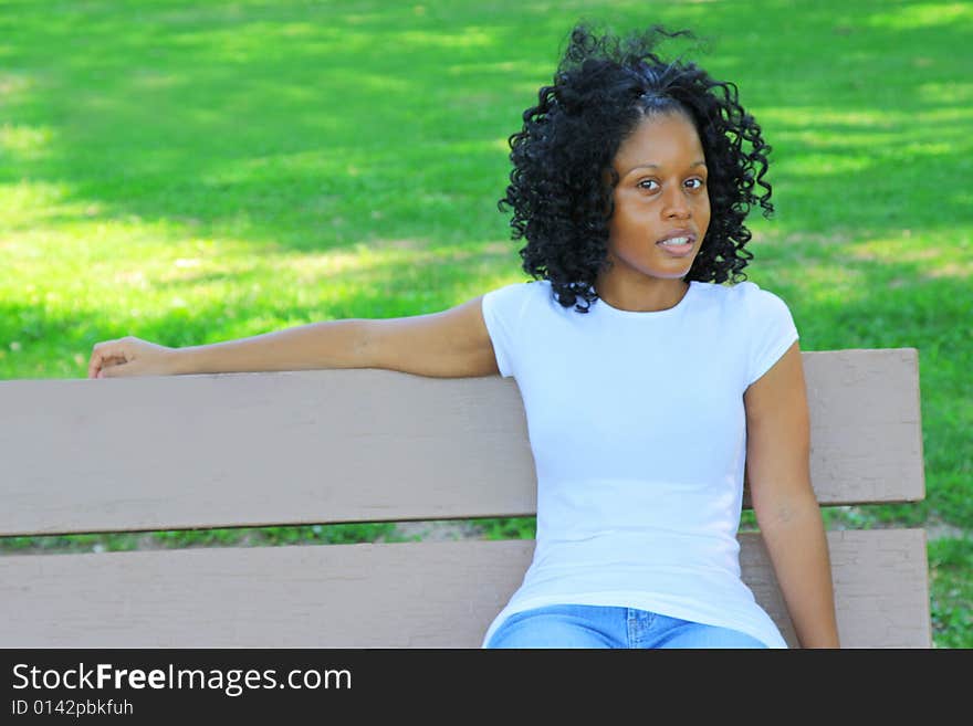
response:
<svg viewBox="0 0 973 726"><path fill-rule="evenodd" d="M752 635L635 608L557 604L515 612L486 648L766 648Z"/></svg>

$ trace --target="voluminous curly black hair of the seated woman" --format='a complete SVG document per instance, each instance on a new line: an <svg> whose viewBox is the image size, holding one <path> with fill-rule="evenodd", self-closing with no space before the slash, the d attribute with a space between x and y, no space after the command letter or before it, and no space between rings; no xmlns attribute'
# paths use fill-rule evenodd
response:
<svg viewBox="0 0 973 726"><path fill-rule="evenodd" d="M764 180L771 147L737 101L736 85L712 78L695 63L663 61L660 41L687 36L653 25L619 35L596 33L587 23L571 32L554 74L536 106L523 113L523 128L510 136L513 169L501 211L513 210L514 240L523 269L550 280L564 307L587 313L598 299L595 281L608 261L608 222L618 175L613 160L646 116L679 112L692 120L709 169L711 222L684 281L732 283L753 254L744 220L758 204L773 212ZM763 193L758 193L762 188Z"/></svg>

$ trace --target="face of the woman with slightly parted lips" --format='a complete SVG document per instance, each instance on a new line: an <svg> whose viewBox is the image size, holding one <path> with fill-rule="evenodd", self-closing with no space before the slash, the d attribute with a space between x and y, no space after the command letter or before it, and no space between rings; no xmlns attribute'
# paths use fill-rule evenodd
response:
<svg viewBox="0 0 973 726"><path fill-rule="evenodd" d="M609 275L635 283L684 276L710 224L705 157L692 122L678 112L645 118L618 148L614 167ZM673 239L680 244L662 244Z"/></svg>

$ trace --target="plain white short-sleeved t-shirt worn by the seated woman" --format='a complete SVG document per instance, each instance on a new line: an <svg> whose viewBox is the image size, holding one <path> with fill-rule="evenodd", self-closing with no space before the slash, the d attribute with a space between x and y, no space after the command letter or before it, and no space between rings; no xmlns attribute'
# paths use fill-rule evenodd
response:
<svg viewBox="0 0 973 726"><path fill-rule="evenodd" d="M798 338L755 283L692 281L666 311L563 307L548 281L483 296L496 365L524 402L537 534L514 612L649 610L786 648L740 577L743 393Z"/></svg>

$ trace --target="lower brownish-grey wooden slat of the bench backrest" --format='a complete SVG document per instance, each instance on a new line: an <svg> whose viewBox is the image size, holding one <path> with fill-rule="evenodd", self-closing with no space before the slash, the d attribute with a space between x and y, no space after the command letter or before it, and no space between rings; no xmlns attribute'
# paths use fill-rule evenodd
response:
<svg viewBox="0 0 973 726"><path fill-rule="evenodd" d="M928 648L922 530L828 533L845 648ZM533 540L0 557L6 648L478 648ZM758 536L757 600L796 644ZM83 607L81 607L83 603Z"/></svg>

